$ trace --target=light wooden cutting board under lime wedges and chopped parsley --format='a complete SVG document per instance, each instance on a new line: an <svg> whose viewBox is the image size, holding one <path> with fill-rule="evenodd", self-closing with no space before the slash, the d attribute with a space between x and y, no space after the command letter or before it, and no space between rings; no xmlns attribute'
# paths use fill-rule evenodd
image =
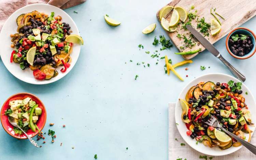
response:
<svg viewBox="0 0 256 160"><path fill-rule="evenodd" d="M210 23L211 18L214 18L210 14L211 8L216 8L216 12L222 15L224 19L217 16L221 21L221 31L216 35L212 36L211 33L209 37L205 37L212 44L217 42L219 39L223 38L226 34L228 34L232 29L242 25L247 20L251 19L256 14L256 1L255 0L173 0L167 5L171 6L181 6L183 7L187 13L192 5L195 6L195 9L191 10L194 12L197 10L198 18L205 18L205 22ZM160 10L159 10L160 11ZM159 19L159 11L157 12L157 19ZM171 14L167 16L167 20L170 20ZM196 18L197 19L197 18ZM191 24L194 28L197 28L196 19L191 21ZM188 21L188 18L186 22ZM184 46L184 40L176 37L177 34L185 34L187 38L189 38L189 31L185 31L181 27L182 24L179 25L177 31L175 32L167 32L173 44L180 52L186 52L189 50L195 50L201 48L202 51L205 49L196 39L194 39L196 45L190 48L180 49L180 46ZM250 29L250 28L249 28ZM199 29L197 29L199 31ZM210 29L209 29L210 30ZM193 55L182 55L184 59L191 59L195 57L198 53Z"/></svg>

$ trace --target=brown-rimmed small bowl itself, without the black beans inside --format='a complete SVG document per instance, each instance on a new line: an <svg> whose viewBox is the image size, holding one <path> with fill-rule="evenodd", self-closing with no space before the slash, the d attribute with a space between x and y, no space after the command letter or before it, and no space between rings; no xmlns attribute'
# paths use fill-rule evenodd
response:
<svg viewBox="0 0 256 160"><path fill-rule="evenodd" d="M251 38L252 38L252 44L253 44L252 50L251 50L248 54L246 54L246 55L244 55L244 56L242 56L242 57L233 54L233 53L231 52L230 48L229 48L229 42L228 42L228 40L229 40L229 38L230 38L232 35L234 35L234 34L236 34L236 33L245 34L245 35L250 35ZM226 48L227 48L227 50L228 50L228 53L229 53L231 56L233 56L234 58L237 58L237 59L247 59L247 58L252 57L252 56L255 54L255 52L256 52L256 46L255 46L255 44L256 44L256 36L255 36L255 34L253 33L253 31L251 31L251 30L248 29L248 28L243 28L243 27L235 28L235 29L233 29L231 32L229 32L229 34L227 35L227 38L226 38Z"/></svg>

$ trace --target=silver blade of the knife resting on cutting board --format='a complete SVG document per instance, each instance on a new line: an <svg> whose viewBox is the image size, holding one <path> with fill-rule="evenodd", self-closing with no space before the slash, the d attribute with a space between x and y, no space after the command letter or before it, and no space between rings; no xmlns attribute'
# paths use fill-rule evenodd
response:
<svg viewBox="0 0 256 160"><path fill-rule="evenodd" d="M215 57L221 56L218 50L207 39L205 39L196 29L194 29L190 25L186 25L186 27L195 36L195 38Z"/></svg>

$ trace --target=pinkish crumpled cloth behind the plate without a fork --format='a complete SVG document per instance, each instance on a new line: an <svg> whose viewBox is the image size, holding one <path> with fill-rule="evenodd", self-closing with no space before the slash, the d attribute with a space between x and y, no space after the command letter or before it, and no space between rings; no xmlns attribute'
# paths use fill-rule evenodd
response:
<svg viewBox="0 0 256 160"><path fill-rule="evenodd" d="M47 3L62 10L84 3L86 0L0 0L0 30L5 20L16 10L33 3Z"/></svg>

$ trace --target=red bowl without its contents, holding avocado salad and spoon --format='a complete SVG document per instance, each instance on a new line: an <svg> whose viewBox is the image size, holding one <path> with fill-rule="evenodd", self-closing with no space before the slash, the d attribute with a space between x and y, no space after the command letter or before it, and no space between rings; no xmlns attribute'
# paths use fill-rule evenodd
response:
<svg viewBox="0 0 256 160"><path fill-rule="evenodd" d="M0 119L1 119L1 124L3 126L3 129L10 134L11 136L17 138L17 139L27 139L26 135L23 134L15 134L13 131L13 126L11 125L11 123L8 120L8 115L5 115L5 111L7 109L10 108L9 106L9 102L13 101L13 100L20 100L20 99L25 99L25 98L31 98L33 101L35 101L35 103L38 104L38 107L40 107L42 109L42 114L39 116L38 121L37 121L37 126L38 128L42 131L42 129L44 128L45 122L46 122L46 109L45 106L43 104L43 102L35 95L31 94L31 93L16 93L13 94L11 97L9 97L3 104L1 112L0 112ZM31 129L29 129L27 131L27 134L30 137L33 137L35 135L37 135L39 132L38 130L36 132L33 132Z"/></svg>

